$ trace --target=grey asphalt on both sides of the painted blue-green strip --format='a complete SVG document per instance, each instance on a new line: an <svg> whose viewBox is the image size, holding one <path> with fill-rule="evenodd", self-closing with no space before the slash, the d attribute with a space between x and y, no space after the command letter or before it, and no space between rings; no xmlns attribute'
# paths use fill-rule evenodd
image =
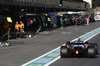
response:
<svg viewBox="0 0 100 66"><path fill-rule="evenodd" d="M52 31L40 32L33 38L12 39L10 47L0 47L0 66L20 66L65 44L66 41L71 41L98 27L100 27L100 22L91 23L89 26L68 26ZM89 42L98 43L100 47L99 39L100 34L90 39ZM95 59L60 58L50 66L99 66L99 56Z"/></svg>

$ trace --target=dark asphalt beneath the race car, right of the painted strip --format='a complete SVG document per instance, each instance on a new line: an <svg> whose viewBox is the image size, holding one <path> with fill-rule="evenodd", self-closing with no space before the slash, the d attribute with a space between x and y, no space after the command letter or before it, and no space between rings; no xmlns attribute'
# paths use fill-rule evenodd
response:
<svg viewBox="0 0 100 66"><path fill-rule="evenodd" d="M100 66L100 34L90 39L89 42L98 44L99 54L96 58L60 58L49 66Z"/></svg>

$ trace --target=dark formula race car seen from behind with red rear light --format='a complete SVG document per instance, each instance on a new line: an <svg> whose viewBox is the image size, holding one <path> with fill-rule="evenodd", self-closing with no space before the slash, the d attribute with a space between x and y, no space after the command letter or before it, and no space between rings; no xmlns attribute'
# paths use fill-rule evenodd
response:
<svg viewBox="0 0 100 66"><path fill-rule="evenodd" d="M68 57L88 57L95 58L98 54L98 46L96 43L88 43L83 41L67 42L65 46L60 48L61 58Z"/></svg>

